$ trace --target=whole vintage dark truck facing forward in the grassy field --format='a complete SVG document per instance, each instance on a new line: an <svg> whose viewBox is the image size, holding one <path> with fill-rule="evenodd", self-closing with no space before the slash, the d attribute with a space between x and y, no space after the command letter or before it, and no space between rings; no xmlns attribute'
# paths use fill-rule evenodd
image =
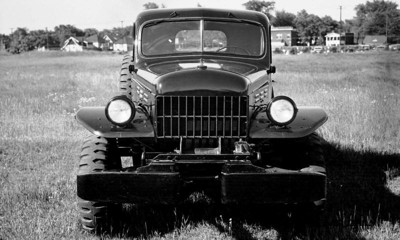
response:
<svg viewBox="0 0 400 240"><path fill-rule="evenodd" d="M223 204L323 208L315 130L327 114L274 96L265 14L159 8L133 29L119 95L75 114L90 132L77 174L83 229L108 229L120 203L178 204L196 191Z"/></svg>

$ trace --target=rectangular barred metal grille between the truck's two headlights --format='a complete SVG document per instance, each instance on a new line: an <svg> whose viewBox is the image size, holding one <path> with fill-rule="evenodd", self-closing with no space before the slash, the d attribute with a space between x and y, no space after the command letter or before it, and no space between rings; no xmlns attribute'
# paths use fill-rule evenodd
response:
<svg viewBox="0 0 400 240"><path fill-rule="evenodd" d="M157 96L157 137L245 137L247 96Z"/></svg>

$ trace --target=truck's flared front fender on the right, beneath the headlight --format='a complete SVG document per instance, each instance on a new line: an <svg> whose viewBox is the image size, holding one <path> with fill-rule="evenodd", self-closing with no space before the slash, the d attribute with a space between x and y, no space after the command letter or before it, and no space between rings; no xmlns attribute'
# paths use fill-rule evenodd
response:
<svg viewBox="0 0 400 240"><path fill-rule="evenodd" d="M252 119L249 130L251 138L291 138L311 134L327 120L327 114L319 106L299 106L296 118L285 126L274 126L266 111L258 112Z"/></svg>

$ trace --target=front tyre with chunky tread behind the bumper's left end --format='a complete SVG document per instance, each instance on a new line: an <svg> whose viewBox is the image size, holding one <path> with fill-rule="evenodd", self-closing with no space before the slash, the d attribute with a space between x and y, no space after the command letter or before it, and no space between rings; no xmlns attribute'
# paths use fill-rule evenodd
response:
<svg viewBox="0 0 400 240"><path fill-rule="evenodd" d="M121 168L120 156L113 154L115 148L104 137L86 136L80 153L78 174L93 170ZM87 201L78 197L82 228L90 233L106 232L109 223L112 222L112 213L115 213L118 207L120 207L118 204Z"/></svg>

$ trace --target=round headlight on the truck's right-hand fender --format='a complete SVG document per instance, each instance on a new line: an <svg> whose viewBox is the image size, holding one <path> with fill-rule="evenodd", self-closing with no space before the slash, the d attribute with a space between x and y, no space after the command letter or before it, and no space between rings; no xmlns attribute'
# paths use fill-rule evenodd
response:
<svg viewBox="0 0 400 240"><path fill-rule="evenodd" d="M287 96L275 96L268 103L266 113L276 125L287 125L294 120L297 113L296 104Z"/></svg>

